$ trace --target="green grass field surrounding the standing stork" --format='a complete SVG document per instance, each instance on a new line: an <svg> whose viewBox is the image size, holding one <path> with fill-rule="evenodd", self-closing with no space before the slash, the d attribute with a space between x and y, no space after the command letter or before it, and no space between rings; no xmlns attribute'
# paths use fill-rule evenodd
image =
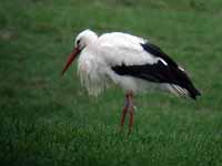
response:
<svg viewBox="0 0 222 166"><path fill-rule="evenodd" d="M222 165L220 0L0 2L0 165ZM131 135L119 132L123 92L89 97L73 39L90 28L147 37L185 68L202 96L137 96Z"/></svg>

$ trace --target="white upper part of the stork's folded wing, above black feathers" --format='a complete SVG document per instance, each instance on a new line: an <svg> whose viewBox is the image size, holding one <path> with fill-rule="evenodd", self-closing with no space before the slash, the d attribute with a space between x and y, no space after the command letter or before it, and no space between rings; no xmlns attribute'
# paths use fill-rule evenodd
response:
<svg viewBox="0 0 222 166"><path fill-rule="evenodd" d="M107 33L99 38L99 54L110 65L134 65L134 64L153 64L157 58L144 51L141 44L145 40L134 35L113 32Z"/></svg>

